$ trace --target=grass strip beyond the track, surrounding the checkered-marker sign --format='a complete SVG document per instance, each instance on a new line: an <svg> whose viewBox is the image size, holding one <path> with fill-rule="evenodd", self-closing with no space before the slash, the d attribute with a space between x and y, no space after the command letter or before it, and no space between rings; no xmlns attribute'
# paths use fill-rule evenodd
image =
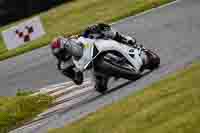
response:
<svg viewBox="0 0 200 133"><path fill-rule="evenodd" d="M97 22L113 22L171 1L173 0L87 0L87 2L74 0L66 2L40 14L47 32L44 37L9 51L0 37L0 60L45 46L55 36L76 34L88 25ZM0 31L14 24L0 28Z"/></svg>

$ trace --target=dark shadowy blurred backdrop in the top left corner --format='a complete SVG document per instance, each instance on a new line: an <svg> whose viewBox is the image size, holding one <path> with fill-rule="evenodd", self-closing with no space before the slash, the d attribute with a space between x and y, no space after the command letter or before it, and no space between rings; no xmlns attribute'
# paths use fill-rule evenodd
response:
<svg viewBox="0 0 200 133"><path fill-rule="evenodd" d="M31 16L71 0L0 0L0 25Z"/></svg>

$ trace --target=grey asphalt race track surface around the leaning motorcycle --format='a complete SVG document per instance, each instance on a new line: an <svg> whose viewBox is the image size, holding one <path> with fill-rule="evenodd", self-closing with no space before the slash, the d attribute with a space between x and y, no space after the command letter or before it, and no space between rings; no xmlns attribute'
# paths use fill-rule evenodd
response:
<svg viewBox="0 0 200 133"><path fill-rule="evenodd" d="M98 95L87 102L15 132L44 132L48 128L62 127L66 122L77 120L90 112L115 102L134 91L162 79L200 57L200 1L181 0L148 14L129 17L113 25L119 31L132 35L145 47L157 51L161 67L135 82L118 81L106 95ZM48 47L32 51L0 63L0 94L14 95L16 88L41 88L46 85L66 82L55 68L55 60ZM124 83L124 84L123 84ZM35 124L36 125L36 124Z"/></svg>

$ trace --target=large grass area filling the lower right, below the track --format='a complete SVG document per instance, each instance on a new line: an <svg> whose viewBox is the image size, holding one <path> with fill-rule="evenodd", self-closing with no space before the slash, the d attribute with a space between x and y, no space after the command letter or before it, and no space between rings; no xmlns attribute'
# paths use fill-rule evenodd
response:
<svg viewBox="0 0 200 133"><path fill-rule="evenodd" d="M49 133L199 133L200 63Z"/></svg>

